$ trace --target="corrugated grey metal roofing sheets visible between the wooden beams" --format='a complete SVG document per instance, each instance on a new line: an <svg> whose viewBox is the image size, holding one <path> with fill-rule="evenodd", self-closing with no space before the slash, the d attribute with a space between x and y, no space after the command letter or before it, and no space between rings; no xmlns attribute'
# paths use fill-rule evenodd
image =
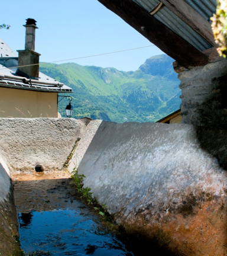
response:
<svg viewBox="0 0 227 256"><path fill-rule="evenodd" d="M150 12L160 1L158 0L133 0L142 8ZM182 0L181 0L182 1ZM201 14L206 20L209 20L216 9L215 0L185 0L193 9ZM194 31L189 25L173 14L167 7L158 11L155 15L157 20L165 24L180 37L192 44L197 50L203 51L212 47L200 34ZM164 35L163 35L164 36Z"/></svg>

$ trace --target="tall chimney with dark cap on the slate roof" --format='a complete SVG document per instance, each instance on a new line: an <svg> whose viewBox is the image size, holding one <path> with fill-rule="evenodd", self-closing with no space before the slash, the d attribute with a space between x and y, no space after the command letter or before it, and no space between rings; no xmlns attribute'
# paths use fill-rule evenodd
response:
<svg viewBox="0 0 227 256"><path fill-rule="evenodd" d="M28 18L26 25L25 35L25 50L18 50L18 75L25 76L27 78L38 79L40 54L35 52L35 30L38 28L33 18ZM20 67L21 66L21 67Z"/></svg>

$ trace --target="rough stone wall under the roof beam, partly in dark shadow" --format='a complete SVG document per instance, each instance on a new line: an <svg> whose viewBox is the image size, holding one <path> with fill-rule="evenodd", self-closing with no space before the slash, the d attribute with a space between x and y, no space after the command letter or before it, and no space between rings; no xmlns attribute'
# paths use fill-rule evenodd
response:
<svg viewBox="0 0 227 256"><path fill-rule="evenodd" d="M227 128L227 61L181 72L182 123Z"/></svg>

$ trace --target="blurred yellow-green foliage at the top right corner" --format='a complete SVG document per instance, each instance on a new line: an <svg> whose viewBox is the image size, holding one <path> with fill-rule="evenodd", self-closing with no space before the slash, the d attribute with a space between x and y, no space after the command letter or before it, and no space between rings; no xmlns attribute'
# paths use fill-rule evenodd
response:
<svg viewBox="0 0 227 256"><path fill-rule="evenodd" d="M227 0L218 0L216 14L211 20L218 53L227 59Z"/></svg>

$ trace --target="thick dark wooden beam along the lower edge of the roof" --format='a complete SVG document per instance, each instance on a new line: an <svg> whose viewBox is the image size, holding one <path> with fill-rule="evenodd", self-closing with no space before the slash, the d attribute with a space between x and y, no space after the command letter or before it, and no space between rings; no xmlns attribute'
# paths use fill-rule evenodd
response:
<svg viewBox="0 0 227 256"><path fill-rule="evenodd" d="M132 0L98 0L185 68L204 66L207 57Z"/></svg>

